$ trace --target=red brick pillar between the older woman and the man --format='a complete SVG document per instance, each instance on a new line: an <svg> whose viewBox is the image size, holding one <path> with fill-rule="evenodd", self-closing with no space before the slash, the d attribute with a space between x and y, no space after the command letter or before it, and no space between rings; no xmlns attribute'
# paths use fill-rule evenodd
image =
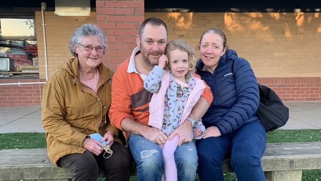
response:
<svg viewBox="0 0 321 181"><path fill-rule="evenodd" d="M104 63L116 70L136 47L135 37L144 21L144 0L96 0L96 13L98 26L107 34Z"/></svg>

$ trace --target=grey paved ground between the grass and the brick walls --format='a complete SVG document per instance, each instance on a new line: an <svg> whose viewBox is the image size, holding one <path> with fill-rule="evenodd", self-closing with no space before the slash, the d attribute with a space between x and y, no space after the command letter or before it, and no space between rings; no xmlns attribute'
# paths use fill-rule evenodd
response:
<svg viewBox="0 0 321 181"><path fill-rule="evenodd" d="M284 102L290 118L281 129L321 129L321 101ZM41 126L41 106L1 107L0 133L44 132Z"/></svg>

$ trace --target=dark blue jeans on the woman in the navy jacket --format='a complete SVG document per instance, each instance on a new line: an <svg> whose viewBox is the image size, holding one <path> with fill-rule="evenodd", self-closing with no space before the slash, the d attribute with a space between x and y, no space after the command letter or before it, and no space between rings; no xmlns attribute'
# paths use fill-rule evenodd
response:
<svg viewBox="0 0 321 181"><path fill-rule="evenodd" d="M266 146L261 122L250 122L226 136L197 142L198 173L201 181L224 181L222 162L231 157L238 181L265 181L261 158Z"/></svg>

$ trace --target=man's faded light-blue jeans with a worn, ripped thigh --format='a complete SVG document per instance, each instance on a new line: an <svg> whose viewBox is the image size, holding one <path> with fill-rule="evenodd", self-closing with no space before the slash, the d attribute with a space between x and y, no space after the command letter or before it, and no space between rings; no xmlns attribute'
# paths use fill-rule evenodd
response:
<svg viewBox="0 0 321 181"><path fill-rule="evenodd" d="M143 136L130 134L128 148L137 164L139 181L161 181L164 172L164 159L161 148ZM195 181L198 156L194 141L176 148L175 162L178 181Z"/></svg>

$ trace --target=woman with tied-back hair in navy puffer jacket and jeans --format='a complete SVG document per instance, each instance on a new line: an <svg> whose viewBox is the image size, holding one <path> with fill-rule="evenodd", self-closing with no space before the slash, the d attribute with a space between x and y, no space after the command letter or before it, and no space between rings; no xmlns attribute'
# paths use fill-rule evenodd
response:
<svg viewBox="0 0 321 181"><path fill-rule="evenodd" d="M231 157L238 181L265 181L261 157L265 129L256 115L259 90L249 63L228 49L219 29L206 30L200 41L196 73L211 88L213 101L202 118L206 128L197 142L201 181L224 181L222 162Z"/></svg>

